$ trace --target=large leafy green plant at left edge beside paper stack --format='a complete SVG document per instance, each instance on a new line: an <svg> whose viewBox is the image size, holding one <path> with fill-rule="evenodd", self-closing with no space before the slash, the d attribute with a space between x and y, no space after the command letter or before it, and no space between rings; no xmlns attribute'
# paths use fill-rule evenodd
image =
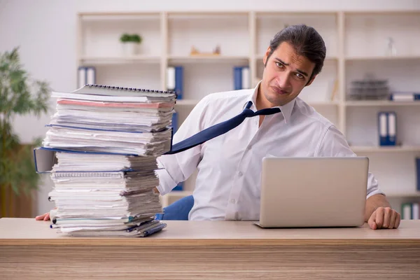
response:
<svg viewBox="0 0 420 280"><path fill-rule="evenodd" d="M48 111L48 83L30 80L20 64L18 48L0 52L0 211L13 216L13 197L29 194L38 186L34 171L33 148L39 140L22 144L13 132L16 116L35 115ZM38 143L36 143L38 142Z"/></svg>

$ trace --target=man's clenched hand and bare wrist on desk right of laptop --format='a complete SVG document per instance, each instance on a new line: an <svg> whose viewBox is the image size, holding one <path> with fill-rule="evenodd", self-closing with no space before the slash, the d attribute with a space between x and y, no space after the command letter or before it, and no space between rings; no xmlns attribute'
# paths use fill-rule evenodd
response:
<svg viewBox="0 0 420 280"><path fill-rule="evenodd" d="M365 222L372 230L398 228L400 221L400 214L391 209L385 195L372 195L366 200Z"/></svg>

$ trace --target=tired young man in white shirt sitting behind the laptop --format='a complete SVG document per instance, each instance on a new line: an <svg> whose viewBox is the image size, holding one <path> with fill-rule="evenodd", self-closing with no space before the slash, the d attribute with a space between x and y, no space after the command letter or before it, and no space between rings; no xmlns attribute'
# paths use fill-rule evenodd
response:
<svg viewBox="0 0 420 280"><path fill-rule="evenodd" d="M278 107L281 113L246 118L204 144L161 156L158 162L164 168L158 170L158 191L169 193L198 169L190 220L255 221L265 156L354 156L342 133L297 97L321 72L325 53L325 43L312 27L293 25L276 34L265 52L264 73L255 89L204 97L174 135L174 144L237 116L250 101L253 111ZM37 217L43 218L48 219L48 214ZM400 215L391 209L372 174L365 221L373 230L400 224Z"/></svg>

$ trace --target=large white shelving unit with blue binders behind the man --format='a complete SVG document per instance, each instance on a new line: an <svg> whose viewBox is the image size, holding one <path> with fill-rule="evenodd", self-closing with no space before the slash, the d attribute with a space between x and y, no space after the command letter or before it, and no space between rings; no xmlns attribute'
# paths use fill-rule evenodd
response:
<svg viewBox="0 0 420 280"><path fill-rule="evenodd" d="M269 41L285 25L300 23L314 27L327 46L323 71L300 97L346 134L353 151L369 156L388 197L418 199L414 158L420 156L420 102L352 101L346 92L352 80L367 73L387 79L391 90L420 92L420 10L80 13L77 64L95 66L97 83L158 90L166 90L167 66L183 66L183 99L176 104L181 124L204 96L233 89L234 66L248 65L255 86ZM123 55L123 33L141 34L139 55ZM395 42L395 56L386 54L388 37ZM211 52L216 45L220 56L190 56L192 46ZM402 146L377 146L381 110L397 113ZM190 194L194 178L185 186L165 201Z"/></svg>

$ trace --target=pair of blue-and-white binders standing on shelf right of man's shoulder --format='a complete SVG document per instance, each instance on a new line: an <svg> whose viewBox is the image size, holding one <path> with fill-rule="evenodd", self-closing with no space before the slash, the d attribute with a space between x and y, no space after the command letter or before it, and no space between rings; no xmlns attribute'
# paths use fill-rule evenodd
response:
<svg viewBox="0 0 420 280"><path fill-rule="evenodd" d="M397 115L395 112L378 113L379 146L397 144Z"/></svg>

